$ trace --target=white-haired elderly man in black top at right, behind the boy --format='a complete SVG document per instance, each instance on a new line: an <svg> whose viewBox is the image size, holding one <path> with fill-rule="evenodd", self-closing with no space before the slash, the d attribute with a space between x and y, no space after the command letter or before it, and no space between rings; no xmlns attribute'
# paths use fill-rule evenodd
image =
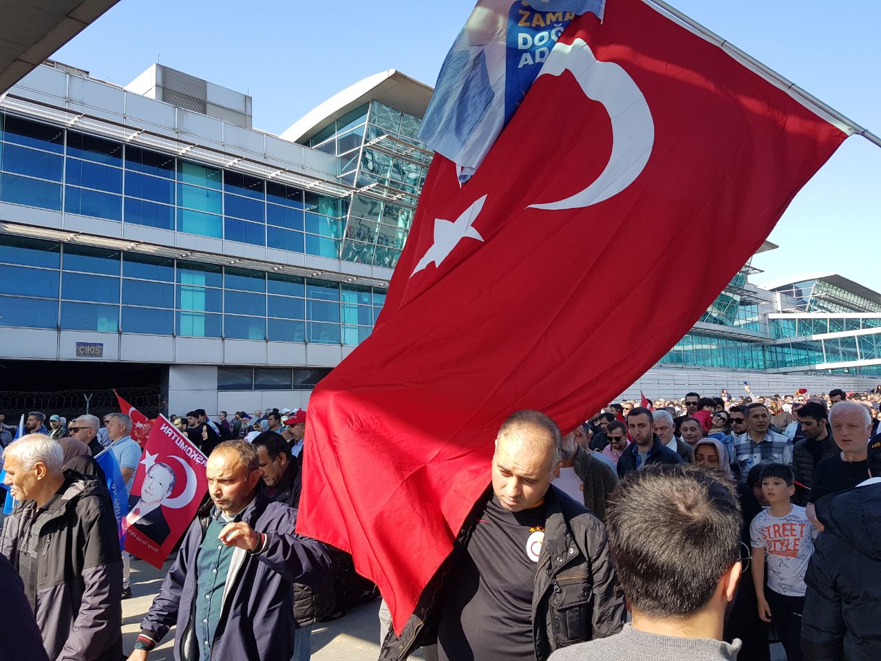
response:
<svg viewBox="0 0 881 661"><path fill-rule="evenodd" d="M811 523L823 530L814 503L829 494L851 489L866 479L866 454L872 434L869 407L858 402L841 401L829 409L829 425L835 444L841 450L822 459L814 469L811 495L805 508Z"/></svg>

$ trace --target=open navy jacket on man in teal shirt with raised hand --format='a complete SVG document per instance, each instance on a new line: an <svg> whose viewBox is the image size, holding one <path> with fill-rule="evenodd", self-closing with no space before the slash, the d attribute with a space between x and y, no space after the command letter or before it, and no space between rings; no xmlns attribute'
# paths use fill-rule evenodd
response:
<svg viewBox="0 0 881 661"><path fill-rule="evenodd" d="M174 624L174 658L198 658L191 628L195 612L196 554L209 517L189 526L159 595L141 622L142 635L159 642ZM313 584L330 571L322 544L294 534L297 510L258 493L241 521L267 535L257 553L236 548L227 575L211 659L289 659L293 656L293 583Z"/></svg>

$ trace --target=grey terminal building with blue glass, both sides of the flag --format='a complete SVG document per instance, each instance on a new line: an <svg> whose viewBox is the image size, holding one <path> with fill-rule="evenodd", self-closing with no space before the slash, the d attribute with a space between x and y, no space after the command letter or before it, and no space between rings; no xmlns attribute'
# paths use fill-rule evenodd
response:
<svg viewBox="0 0 881 661"><path fill-rule="evenodd" d="M276 136L247 95L159 64L124 86L34 69L0 96L0 411L143 383L148 413L306 405L382 308L431 93L384 71ZM625 394L881 382L881 294L757 272Z"/></svg>

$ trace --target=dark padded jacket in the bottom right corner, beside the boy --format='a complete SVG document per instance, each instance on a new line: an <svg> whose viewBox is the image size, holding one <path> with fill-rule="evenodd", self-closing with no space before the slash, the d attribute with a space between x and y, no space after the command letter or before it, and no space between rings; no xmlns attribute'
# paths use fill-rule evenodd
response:
<svg viewBox="0 0 881 661"><path fill-rule="evenodd" d="M881 659L881 482L817 501L825 525L804 582L805 661Z"/></svg>

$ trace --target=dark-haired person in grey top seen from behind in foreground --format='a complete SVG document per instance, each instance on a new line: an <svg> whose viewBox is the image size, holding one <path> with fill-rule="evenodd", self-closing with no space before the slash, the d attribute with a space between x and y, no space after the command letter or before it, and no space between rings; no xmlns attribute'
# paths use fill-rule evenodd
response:
<svg viewBox="0 0 881 661"><path fill-rule="evenodd" d="M736 659L740 641L722 641L741 573L734 483L697 464L649 465L618 485L606 525L633 620L549 661Z"/></svg>

